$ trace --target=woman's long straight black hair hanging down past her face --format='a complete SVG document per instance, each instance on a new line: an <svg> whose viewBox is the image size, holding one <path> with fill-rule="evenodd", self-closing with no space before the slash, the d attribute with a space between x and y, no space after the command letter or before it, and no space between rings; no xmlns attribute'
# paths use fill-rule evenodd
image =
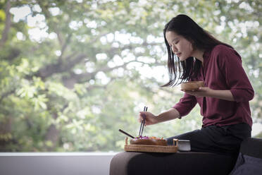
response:
<svg viewBox="0 0 262 175"><path fill-rule="evenodd" d="M166 48L168 49L168 73L169 82L164 86L174 86L182 82L185 82L191 78L196 78L201 68L201 61L194 59L190 56L185 61L180 61L177 56L174 56L172 49L166 40L166 32L175 32L177 35L182 35L186 40L192 42L193 49L200 49L205 51L211 50L218 44L224 44L227 47L231 47L229 44L220 42L206 30L201 28L198 24L194 22L189 16L178 15L172 18L163 30L163 35L165 37Z"/></svg>

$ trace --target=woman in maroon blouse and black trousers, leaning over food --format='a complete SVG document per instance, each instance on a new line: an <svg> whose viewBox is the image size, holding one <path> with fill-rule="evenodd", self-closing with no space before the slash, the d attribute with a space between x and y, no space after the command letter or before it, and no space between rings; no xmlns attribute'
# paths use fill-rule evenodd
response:
<svg viewBox="0 0 262 175"><path fill-rule="evenodd" d="M181 119L194 108L201 107L201 129L167 138L190 140L196 152L237 153L245 138L251 137L249 101L254 90L242 68L241 57L233 47L216 40L194 20L178 15L166 24L163 35L168 50L168 71L173 86L185 81L202 80L205 87L185 91L174 107L154 115L141 111L146 125Z"/></svg>

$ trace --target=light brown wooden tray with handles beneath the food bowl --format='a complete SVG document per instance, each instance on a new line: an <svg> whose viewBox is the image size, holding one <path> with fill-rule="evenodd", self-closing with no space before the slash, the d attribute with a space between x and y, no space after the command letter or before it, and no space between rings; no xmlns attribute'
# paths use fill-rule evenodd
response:
<svg viewBox="0 0 262 175"><path fill-rule="evenodd" d="M172 146L159 145L128 145L128 138L125 138L125 151L130 152L177 152L177 139L173 139Z"/></svg>

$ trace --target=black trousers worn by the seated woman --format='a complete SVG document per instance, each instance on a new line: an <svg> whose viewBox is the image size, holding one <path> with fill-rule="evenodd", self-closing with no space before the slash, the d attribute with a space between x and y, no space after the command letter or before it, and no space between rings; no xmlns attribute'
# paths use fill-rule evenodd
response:
<svg viewBox="0 0 262 175"><path fill-rule="evenodd" d="M190 140L194 152L216 152L220 154L237 154L240 144L251 137L251 127L247 123L229 126L206 126L199 130L167 138L168 145L173 145L173 138Z"/></svg>

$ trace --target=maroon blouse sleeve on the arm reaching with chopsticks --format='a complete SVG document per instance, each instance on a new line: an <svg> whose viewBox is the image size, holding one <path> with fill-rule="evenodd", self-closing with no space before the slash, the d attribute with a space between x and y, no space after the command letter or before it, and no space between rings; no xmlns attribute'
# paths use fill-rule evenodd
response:
<svg viewBox="0 0 262 175"><path fill-rule="evenodd" d="M177 109L180 114L179 119L181 119L182 116L186 116L187 114L189 114L189 112L194 108L195 105L196 97L185 93L180 101L177 102L175 106L173 106L173 108Z"/></svg>

